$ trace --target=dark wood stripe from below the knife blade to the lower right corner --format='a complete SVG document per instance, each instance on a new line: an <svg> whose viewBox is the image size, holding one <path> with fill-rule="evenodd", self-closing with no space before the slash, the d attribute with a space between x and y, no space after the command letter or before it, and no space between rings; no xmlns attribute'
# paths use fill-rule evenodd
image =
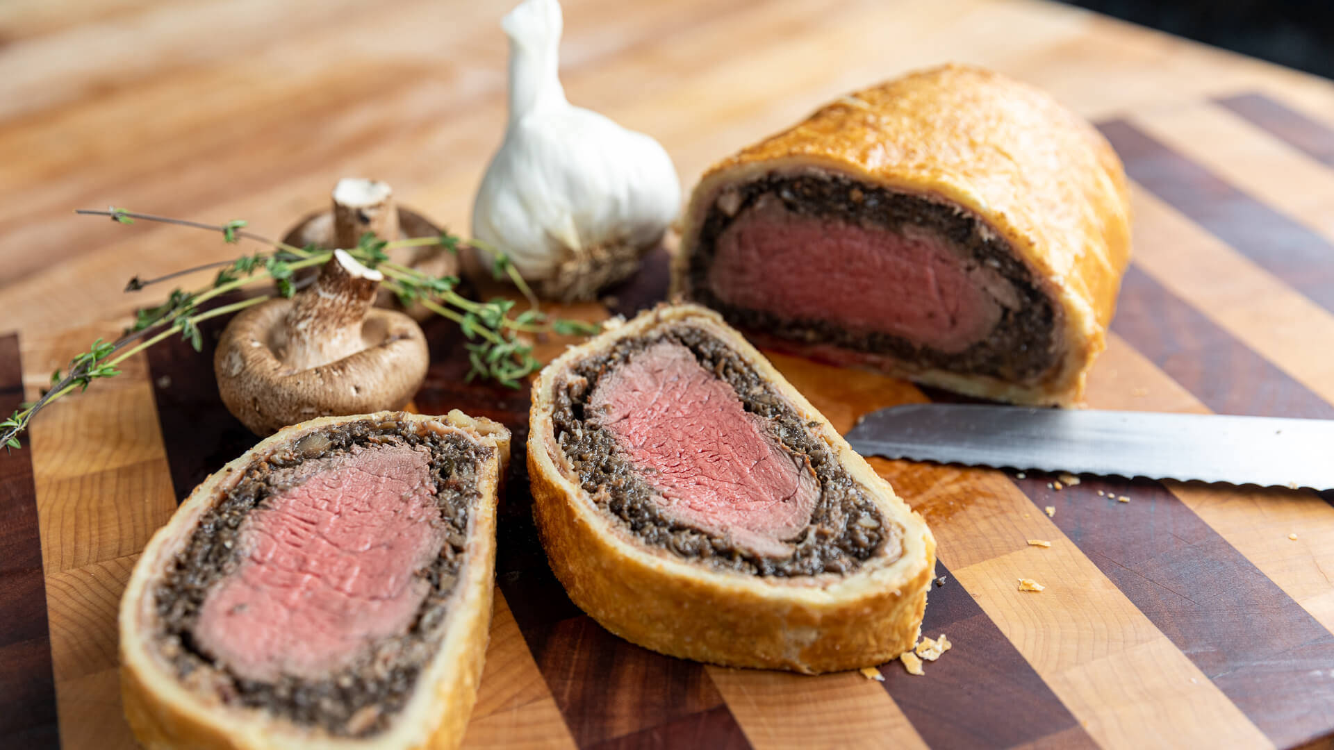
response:
<svg viewBox="0 0 1334 750"><path fill-rule="evenodd" d="M1015 483L1057 508L1066 536L1275 745L1334 726L1334 634L1193 510L1147 479L1085 478L1059 491L1051 480Z"/></svg>

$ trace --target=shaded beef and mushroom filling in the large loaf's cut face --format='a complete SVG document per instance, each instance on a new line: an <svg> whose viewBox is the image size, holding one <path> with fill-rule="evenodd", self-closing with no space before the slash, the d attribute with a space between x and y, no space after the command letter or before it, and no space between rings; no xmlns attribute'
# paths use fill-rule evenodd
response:
<svg viewBox="0 0 1334 750"><path fill-rule="evenodd" d="M835 175L726 191L691 258L692 294L743 328L910 364L1037 380L1055 314L974 216Z"/></svg>

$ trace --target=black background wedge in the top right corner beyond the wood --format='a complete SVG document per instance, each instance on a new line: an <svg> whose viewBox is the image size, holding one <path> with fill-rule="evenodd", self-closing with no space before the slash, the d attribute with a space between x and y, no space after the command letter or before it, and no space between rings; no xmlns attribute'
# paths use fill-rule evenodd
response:
<svg viewBox="0 0 1334 750"><path fill-rule="evenodd" d="M1109 16L1334 77L1334 0L1065 0Z"/></svg>

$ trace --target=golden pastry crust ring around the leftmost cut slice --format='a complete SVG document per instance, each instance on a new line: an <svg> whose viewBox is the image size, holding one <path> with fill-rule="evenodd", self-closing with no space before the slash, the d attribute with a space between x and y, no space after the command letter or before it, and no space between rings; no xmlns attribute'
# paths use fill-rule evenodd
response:
<svg viewBox="0 0 1334 750"><path fill-rule="evenodd" d="M263 709L229 706L215 694L191 690L157 649L155 585L189 540L200 516L233 487L256 459L285 450L303 436L359 420L396 420L418 430L460 431L495 448L478 471L482 498L468 514L466 559L435 655L422 667L412 697L384 731L334 737ZM495 579L496 494L510 455L510 432L460 411L446 416L382 411L324 416L279 430L196 487L148 542L120 602L120 687L125 718L149 750L448 750L458 747L476 701L491 625Z"/></svg>

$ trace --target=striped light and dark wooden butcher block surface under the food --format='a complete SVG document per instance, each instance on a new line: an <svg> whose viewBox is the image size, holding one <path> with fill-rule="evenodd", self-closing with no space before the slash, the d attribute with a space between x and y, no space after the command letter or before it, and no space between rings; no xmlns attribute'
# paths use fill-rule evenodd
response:
<svg viewBox="0 0 1334 750"><path fill-rule="evenodd" d="M364 175L466 232L504 123L507 8L0 5L0 408L156 302L157 287L123 294L131 276L257 250L73 208L247 219L280 236L338 177ZM566 3L570 99L660 139L687 188L839 93L946 60L1047 88L1126 163L1134 260L1090 406L1334 418L1329 81L1027 0ZM563 314L630 314L663 298L666 272L655 255L606 306ZM173 342L128 360L0 454L0 746L133 746L116 674L121 589L177 500L256 440L217 399L219 330L203 355ZM427 334L435 363L414 407L499 419L522 447L527 392L463 383L459 335L439 320ZM950 398L772 359L844 431L878 407ZM466 745L1297 747L1334 735L1334 492L872 464L939 543L923 630L954 647L924 677L896 662L883 682L732 670L619 641L551 575L516 456ZM1021 578L1046 589L1019 591Z"/></svg>

